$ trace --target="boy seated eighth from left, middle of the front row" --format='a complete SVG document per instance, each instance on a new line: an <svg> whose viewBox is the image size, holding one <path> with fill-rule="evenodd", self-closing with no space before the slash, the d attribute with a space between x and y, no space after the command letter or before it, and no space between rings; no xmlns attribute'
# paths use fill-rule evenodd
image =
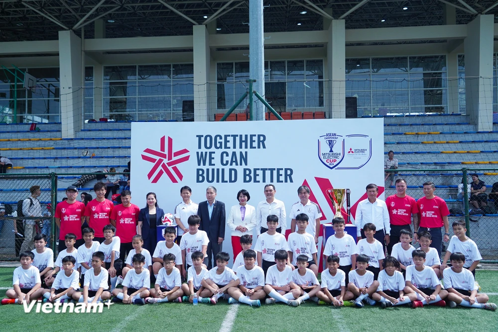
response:
<svg viewBox="0 0 498 332"><path fill-rule="evenodd" d="M251 307L260 307L259 300L264 299L266 293L263 290L264 273L263 269L256 266L256 252L248 249L244 252L244 265L237 269L237 276L240 279L239 287L230 287L228 294L231 298L228 303L242 302Z"/></svg>

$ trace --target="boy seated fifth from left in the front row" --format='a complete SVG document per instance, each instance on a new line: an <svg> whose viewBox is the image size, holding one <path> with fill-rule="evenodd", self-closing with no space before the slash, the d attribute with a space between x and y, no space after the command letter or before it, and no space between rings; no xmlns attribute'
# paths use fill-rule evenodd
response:
<svg viewBox="0 0 498 332"><path fill-rule="evenodd" d="M150 290L150 297L145 299L147 303L182 302L181 289L182 277L180 270L175 267L176 257L173 254L165 254L162 258L164 267L159 270L154 289Z"/></svg>

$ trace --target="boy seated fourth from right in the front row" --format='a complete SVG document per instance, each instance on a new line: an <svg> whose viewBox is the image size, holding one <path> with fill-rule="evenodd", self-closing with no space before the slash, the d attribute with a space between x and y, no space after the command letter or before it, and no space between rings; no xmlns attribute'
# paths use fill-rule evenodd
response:
<svg viewBox="0 0 498 332"><path fill-rule="evenodd" d="M349 272L348 291L356 297L355 305L358 308L365 307L363 300L371 306L375 305L375 300L370 296L377 291L378 281L373 280L373 272L368 271L370 257L364 254L356 258L356 270Z"/></svg>

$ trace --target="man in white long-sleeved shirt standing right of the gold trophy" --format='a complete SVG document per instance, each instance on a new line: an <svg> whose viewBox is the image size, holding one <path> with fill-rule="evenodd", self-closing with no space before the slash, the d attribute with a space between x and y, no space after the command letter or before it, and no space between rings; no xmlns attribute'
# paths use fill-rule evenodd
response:
<svg viewBox="0 0 498 332"><path fill-rule="evenodd" d="M389 233L391 231L389 223L389 212L385 202L377 198L378 188L373 183L367 186L368 198L358 204L355 216L358 241L365 238L363 226L366 223L373 223L376 231L373 235L385 251L385 243L389 244Z"/></svg>

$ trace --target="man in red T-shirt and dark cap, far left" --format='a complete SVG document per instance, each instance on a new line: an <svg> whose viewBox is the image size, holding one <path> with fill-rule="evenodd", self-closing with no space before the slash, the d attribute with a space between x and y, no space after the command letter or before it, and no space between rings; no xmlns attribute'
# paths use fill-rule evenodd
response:
<svg viewBox="0 0 498 332"><path fill-rule="evenodd" d="M76 235L75 248L84 243L81 236L81 225L85 221L85 204L76 201L78 189L75 186L69 186L66 189L67 201L62 201L55 207L55 223L59 230L59 252L66 249L64 237L67 233Z"/></svg>

